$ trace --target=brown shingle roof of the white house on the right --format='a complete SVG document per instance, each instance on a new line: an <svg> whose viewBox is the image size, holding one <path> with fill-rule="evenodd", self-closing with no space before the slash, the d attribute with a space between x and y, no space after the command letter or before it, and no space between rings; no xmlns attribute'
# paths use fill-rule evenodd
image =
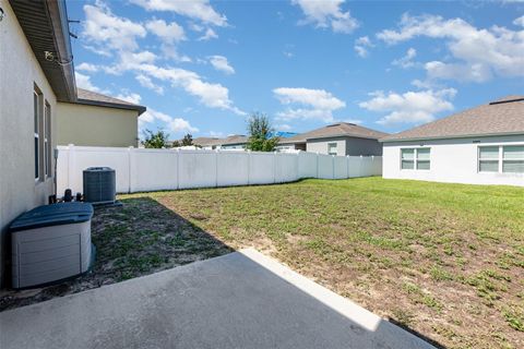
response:
<svg viewBox="0 0 524 349"><path fill-rule="evenodd" d="M388 135L381 142L524 134L524 96L504 98Z"/></svg>

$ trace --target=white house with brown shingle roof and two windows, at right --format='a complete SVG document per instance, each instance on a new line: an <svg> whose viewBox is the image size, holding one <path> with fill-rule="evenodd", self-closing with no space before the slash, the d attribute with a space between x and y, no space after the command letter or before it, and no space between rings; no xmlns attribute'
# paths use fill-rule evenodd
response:
<svg viewBox="0 0 524 349"><path fill-rule="evenodd" d="M508 96L381 142L384 178L524 185L524 96Z"/></svg>

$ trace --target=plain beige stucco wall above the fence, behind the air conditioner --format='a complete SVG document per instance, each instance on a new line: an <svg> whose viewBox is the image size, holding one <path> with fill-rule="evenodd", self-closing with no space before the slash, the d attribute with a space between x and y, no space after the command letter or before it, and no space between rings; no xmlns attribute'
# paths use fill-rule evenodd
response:
<svg viewBox="0 0 524 349"><path fill-rule="evenodd" d="M135 110L58 103L58 144L138 146L138 117Z"/></svg>

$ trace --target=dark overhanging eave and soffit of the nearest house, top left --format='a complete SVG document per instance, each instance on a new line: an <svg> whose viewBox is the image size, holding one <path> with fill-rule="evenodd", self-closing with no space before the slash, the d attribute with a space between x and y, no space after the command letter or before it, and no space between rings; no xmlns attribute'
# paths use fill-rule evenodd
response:
<svg viewBox="0 0 524 349"><path fill-rule="evenodd" d="M10 4L57 99L74 101L76 84L66 1L11 0ZM52 57L46 57L46 51Z"/></svg>

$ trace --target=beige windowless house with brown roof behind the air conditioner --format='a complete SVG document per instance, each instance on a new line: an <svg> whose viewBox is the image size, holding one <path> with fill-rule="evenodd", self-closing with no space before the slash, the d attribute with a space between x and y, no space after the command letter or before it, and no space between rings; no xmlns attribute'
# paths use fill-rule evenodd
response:
<svg viewBox="0 0 524 349"><path fill-rule="evenodd" d="M138 118L145 107L76 88L78 98L57 105L58 145L138 146Z"/></svg>

